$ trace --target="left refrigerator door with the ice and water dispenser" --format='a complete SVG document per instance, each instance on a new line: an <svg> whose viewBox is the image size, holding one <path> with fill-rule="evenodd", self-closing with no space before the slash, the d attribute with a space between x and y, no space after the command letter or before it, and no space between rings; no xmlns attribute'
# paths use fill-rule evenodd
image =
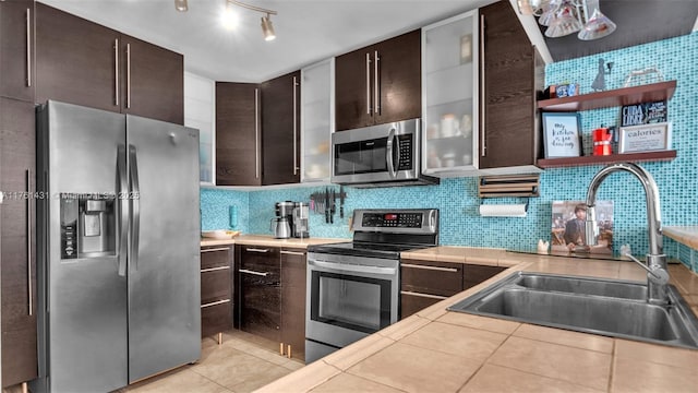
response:
<svg viewBox="0 0 698 393"><path fill-rule="evenodd" d="M40 122L38 139L40 144L48 143L48 160L39 170L43 178L48 176L50 192L40 201L48 204L48 215L40 221L48 225L49 249L40 272L41 279L48 279L44 283L48 305L43 308L48 310L50 332L48 348L40 354L48 365L41 368L48 368L53 392L112 391L128 383L127 277L119 275L113 241L96 240L97 230L100 236L116 236L117 223L105 218L107 202L83 200L83 221L74 223L93 228L85 231L83 227L82 235L73 228L71 236L77 236L77 241L84 236L85 243L93 241L110 251L77 255L74 238L70 245L64 236L61 241L61 229L67 228L61 217L76 216L80 200L59 196L117 194L117 152L125 143L125 118L56 102L41 110L48 110L48 121ZM103 218L106 222L97 222Z"/></svg>

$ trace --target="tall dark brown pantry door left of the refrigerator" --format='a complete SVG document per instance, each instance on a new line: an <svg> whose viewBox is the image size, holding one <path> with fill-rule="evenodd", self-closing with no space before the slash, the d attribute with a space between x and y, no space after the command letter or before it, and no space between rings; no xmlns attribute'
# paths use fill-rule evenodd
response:
<svg viewBox="0 0 698 393"><path fill-rule="evenodd" d="M0 98L2 386L33 380L36 355L34 104Z"/></svg>

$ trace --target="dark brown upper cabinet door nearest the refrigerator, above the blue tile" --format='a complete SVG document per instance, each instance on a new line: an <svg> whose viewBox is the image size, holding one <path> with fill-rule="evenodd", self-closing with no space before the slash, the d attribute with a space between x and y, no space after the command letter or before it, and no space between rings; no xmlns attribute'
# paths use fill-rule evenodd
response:
<svg viewBox="0 0 698 393"><path fill-rule="evenodd" d="M262 186L260 115L257 84L216 83L217 186Z"/></svg>

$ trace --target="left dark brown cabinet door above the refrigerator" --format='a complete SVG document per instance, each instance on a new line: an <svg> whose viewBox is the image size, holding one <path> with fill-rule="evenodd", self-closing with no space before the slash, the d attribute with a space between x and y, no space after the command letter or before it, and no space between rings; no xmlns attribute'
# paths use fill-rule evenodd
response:
<svg viewBox="0 0 698 393"><path fill-rule="evenodd" d="M119 33L36 3L36 102L120 111Z"/></svg>

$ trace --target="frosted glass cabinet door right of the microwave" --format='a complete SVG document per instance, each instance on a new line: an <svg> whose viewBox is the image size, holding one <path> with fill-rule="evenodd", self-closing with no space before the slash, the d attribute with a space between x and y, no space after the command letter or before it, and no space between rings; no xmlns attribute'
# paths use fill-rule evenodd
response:
<svg viewBox="0 0 698 393"><path fill-rule="evenodd" d="M478 169L478 10L422 28L422 171Z"/></svg>

